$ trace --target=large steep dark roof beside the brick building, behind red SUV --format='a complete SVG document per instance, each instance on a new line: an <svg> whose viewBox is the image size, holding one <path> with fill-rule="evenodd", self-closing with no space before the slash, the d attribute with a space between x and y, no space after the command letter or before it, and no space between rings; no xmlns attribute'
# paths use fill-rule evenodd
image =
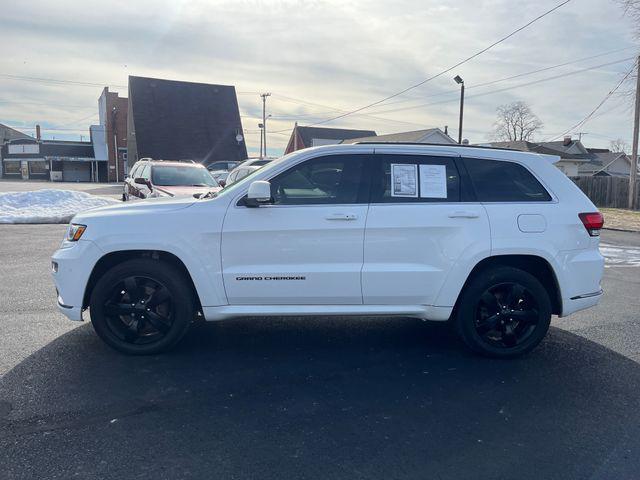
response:
<svg viewBox="0 0 640 480"><path fill-rule="evenodd" d="M129 136L138 158L243 160L235 87L129 77ZM135 158L135 157L134 157Z"/></svg>

